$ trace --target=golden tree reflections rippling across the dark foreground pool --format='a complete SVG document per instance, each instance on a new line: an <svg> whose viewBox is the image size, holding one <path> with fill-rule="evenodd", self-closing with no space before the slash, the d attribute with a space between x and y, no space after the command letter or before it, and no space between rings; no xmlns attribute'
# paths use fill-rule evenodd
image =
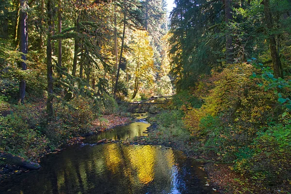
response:
<svg viewBox="0 0 291 194"><path fill-rule="evenodd" d="M125 193L171 191L171 173L175 163L171 149L107 144L92 147L90 150L83 153L87 156L82 156L80 160L66 160L65 172L58 172L59 193L86 193L86 190L94 187L99 193L105 192L99 189Z"/></svg>

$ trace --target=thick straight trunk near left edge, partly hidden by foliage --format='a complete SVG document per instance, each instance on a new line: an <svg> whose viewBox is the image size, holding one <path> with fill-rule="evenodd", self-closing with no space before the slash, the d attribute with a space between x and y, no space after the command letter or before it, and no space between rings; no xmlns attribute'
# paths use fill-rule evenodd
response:
<svg viewBox="0 0 291 194"><path fill-rule="evenodd" d="M26 61L26 55L27 54L27 48L28 48L28 33L27 33L27 12L26 12L26 2L25 0L20 0L20 11L19 11L19 39L20 39L20 47L19 51L22 52L21 59L23 61L20 62L20 67L22 70L27 69L27 65L25 63ZM19 99L21 103L24 103L24 97L25 97L25 80L21 80L19 83Z"/></svg>

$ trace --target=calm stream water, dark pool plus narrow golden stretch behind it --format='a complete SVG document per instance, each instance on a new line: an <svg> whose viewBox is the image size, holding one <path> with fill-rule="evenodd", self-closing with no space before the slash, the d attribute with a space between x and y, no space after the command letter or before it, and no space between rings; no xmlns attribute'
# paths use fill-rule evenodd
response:
<svg viewBox="0 0 291 194"><path fill-rule="evenodd" d="M212 194L194 160L161 146L93 145L144 135L137 122L87 138L42 159L39 170L0 183L1 194Z"/></svg>

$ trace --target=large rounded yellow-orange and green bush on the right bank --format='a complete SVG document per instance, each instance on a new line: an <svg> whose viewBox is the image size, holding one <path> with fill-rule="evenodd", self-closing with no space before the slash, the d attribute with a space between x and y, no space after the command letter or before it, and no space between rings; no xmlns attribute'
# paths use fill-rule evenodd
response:
<svg viewBox="0 0 291 194"><path fill-rule="evenodd" d="M234 170L262 187L290 185L290 81L255 67L229 65L215 81L199 83L210 83L209 94L201 108L184 109L183 121L213 160L235 162Z"/></svg>

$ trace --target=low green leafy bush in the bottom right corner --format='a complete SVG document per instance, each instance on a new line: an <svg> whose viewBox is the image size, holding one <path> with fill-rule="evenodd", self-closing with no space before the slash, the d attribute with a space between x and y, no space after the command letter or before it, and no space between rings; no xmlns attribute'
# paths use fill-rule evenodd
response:
<svg viewBox="0 0 291 194"><path fill-rule="evenodd" d="M259 132L253 144L246 147L248 157L238 157L234 168L268 184L289 184L286 181L291 180L290 137L291 124L278 124Z"/></svg>

